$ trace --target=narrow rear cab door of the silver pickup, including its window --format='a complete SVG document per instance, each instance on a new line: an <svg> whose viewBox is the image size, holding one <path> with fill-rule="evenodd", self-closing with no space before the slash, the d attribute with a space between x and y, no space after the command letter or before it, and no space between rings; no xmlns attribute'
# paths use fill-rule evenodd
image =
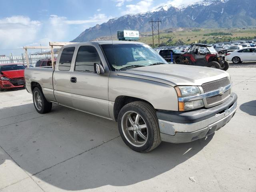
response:
<svg viewBox="0 0 256 192"><path fill-rule="evenodd" d="M71 100L70 69L74 60L75 46L62 50L53 73L54 96L59 104L73 107ZM50 80L49 80L50 81Z"/></svg>

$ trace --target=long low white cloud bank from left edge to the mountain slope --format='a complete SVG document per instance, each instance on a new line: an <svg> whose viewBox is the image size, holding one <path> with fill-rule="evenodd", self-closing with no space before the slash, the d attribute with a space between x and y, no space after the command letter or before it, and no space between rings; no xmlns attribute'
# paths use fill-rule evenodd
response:
<svg viewBox="0 0 256 192"><path fill-rule="evenodd" d="M26 16L0 18L0 49L40 44L48 46L50 41L70 41L86 28L106 22L110 18L112 17L105 14L95 14L87 20L68 20L58 15L50 15L44 21L31 20Z"/></svg>

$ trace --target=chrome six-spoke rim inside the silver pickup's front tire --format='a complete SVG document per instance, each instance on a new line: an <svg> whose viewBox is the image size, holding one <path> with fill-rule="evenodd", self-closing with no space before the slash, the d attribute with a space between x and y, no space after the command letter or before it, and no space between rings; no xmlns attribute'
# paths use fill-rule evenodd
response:
<svg viewBox="0 0 256 192"><path fill-rule="evenodd" d="M127 111L121 120L122 132L126 140L135 147L141 147L148 140L146 122L138 113Z"/></svg>

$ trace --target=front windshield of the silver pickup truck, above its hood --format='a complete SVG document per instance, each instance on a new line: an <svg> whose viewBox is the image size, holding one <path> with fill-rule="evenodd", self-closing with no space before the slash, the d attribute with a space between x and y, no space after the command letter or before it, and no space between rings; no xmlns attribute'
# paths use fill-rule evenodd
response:
<svg viewBox="0 0 256 192"><path fill-rule="evenodd" d="M104 44L101 45L111 70L168 64L156 51L145 44Z"/></svg>

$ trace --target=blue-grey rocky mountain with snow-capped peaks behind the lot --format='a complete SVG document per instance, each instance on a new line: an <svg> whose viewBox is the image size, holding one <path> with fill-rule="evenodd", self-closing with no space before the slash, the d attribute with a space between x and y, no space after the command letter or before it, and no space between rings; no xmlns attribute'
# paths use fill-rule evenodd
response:
<svg viewBox="0 0 256 192"><path fill-rule="evenodd" d="M176 1L178 2L178 1ZM148 32L151 19L162 21L160 29L178 27L234 28L256 26L256 0L200 0L191 4L168 4L140 14L127 14L86 29L72 42L110 36L118 30Z"/></svg>

